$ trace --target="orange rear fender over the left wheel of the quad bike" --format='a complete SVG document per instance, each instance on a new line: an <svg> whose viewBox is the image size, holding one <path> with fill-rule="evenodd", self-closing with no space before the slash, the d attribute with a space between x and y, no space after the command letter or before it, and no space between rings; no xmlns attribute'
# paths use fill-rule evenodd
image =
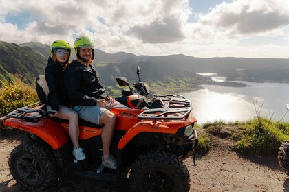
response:
<svg viewBox="0 0 289 192"><path fill-rule="evenodd" d="M39 122L27 122L22 119L9 118L4 120L3 125L24 130L39 136L43 141L48 143L52 149L62 147L69 141L69 135L60 123L53 121L48 117L43 117Z"/></svg>

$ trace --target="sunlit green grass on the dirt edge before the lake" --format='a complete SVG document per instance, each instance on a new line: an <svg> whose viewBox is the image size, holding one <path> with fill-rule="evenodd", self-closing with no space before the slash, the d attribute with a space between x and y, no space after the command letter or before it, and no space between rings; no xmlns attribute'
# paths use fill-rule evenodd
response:
<svg viewBox="0 0 289 192"><path fill-rule="evenodd" d="M204 123L202 129L208 134L235 141L234 149L237 152L253 156L277 154L281 143L289 139L289 123L275 122L261 117L244 122Z"/></svg>

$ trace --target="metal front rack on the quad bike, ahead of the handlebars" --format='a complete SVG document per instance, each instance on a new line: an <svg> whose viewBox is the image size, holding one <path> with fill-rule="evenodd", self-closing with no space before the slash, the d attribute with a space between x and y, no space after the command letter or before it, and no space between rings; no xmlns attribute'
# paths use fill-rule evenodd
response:
<svg viewBox="0 0 289 192"><path fill-rule="evenodd" d="M191 101L182 95L153 95L163 107L144 110L138 119L180 120L187 118L192 110Z"/></svg>

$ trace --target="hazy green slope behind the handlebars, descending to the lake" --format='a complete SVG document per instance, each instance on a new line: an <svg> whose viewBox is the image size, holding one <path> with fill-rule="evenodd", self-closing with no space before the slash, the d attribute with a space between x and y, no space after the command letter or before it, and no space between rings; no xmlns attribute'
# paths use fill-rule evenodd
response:
<svg viewBox="0 0 289 192"><path fill-rule="evenodd" d="M198 84L211 82L210 78L190 72L179 73L174 68L166 68L148 62L120 63L120 64L97 64L100 80L105 86L111 86L111 95L120 95L116 89L116 77L122 76L133 82L138 82L136 66L140 66L140 80L147 82L152 93L177 94L185 91L195 91L200 87ZM127 88L127 87L125 87Z"/></svg>

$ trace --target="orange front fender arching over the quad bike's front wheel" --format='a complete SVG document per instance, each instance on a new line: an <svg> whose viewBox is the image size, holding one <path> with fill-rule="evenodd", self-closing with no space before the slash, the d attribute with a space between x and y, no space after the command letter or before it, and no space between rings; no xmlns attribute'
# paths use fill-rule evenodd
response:
<svg viewBox="0 0 289 192"><path fill-rule="evenodd" d="M134 125L129 131L125 133L124 136L118 142L118 149L122 150L131 139L133 139L137 134L141 132L152 132L152 133L166 133L166 134L175 134L178 129L169 128L169 126L164 125L161 122L154 122L150 120L142 120L136 125Z"/></svg>

